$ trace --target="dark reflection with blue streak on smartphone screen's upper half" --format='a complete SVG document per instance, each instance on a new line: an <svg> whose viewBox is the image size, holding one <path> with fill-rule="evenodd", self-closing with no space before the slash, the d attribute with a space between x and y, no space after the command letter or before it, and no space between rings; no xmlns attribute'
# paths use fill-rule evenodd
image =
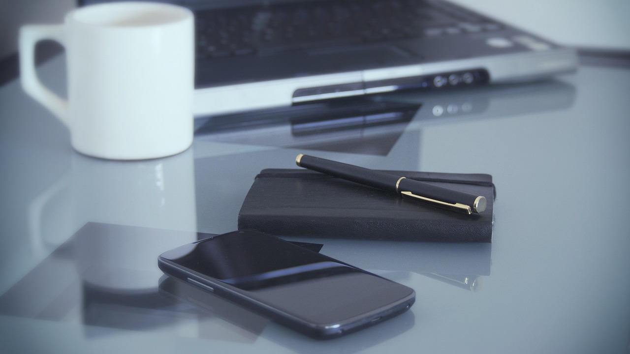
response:
<svg viewBox="0 0 630 354"><path fill-rule="evenodd" d="M265 234L255 231L230 232L185 244L163 253L160 259L168 261L162 264L166 269L171 269L167 264L172 262L249 292L359 273L303 247L272 237L267 241Z"/></svg>

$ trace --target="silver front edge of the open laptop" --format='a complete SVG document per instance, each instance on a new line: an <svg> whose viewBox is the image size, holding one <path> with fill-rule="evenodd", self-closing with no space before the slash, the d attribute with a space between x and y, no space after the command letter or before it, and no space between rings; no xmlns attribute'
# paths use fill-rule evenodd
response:
<svg viewBox="0 0 630 354"><path fill-rule="evenodd" d="M522 82L541 79L551 75L575 71L578 65L576 51L570 48L542 48L532 52L505 54L492 57L476 57L445 62L414 64L409 66L384 67L364 71L339 72L318 76L292 77L256 83L234 84L195 90L195 117L222 115L239 111L260 110L295 103L316 101L344 96L395 91L398 87L387 84L382 87L330 90L323 94L294 97L295 91L305 88L339 87L351 83L372 83L408 77L446 75L449 72L485 69L490 84ZM459 83L464 85L464 83ZM447 83L447 86L452 86Z"/></svg>

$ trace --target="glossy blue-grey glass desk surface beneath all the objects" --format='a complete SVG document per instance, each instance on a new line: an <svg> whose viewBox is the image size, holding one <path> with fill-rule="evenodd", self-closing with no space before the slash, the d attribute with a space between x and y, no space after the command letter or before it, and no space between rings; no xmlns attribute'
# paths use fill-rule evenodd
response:
<svg viewBox="0 0 630 354"><path fill-rule="evenodd" d="M40 67L58 91L64 75L62 57ZM627 68L581 66L361 103L392 117L383 124L346 125L372 113L345 107L198 119L188 151L118 162L72 151L67 129L14 80L0 87L0 351L626 353L629 92ZM161 277L159 253L236 229L256 174L295 168L301 152L491 174L493 243L299 239L416 291L405 314L329 341ZM75 234L87 222L103 232Z"/></svg>

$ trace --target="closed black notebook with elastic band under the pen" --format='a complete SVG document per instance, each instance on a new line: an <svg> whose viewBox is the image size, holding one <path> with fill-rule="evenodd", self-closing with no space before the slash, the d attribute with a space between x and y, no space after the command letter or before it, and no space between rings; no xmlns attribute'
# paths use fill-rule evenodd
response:
<svg viewBox="0 0 630 354"><path fill-rule="evenodd" d="M490 243L495 186L489 174L386 171L482 195L488 207L466 215L304 169L264 169L238 217L239 229L276 236Z"/></svg>

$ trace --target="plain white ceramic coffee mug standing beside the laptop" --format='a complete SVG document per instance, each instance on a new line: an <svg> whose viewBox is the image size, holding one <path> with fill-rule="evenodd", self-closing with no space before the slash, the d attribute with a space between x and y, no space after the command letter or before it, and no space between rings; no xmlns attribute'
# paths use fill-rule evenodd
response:
<svg viewBox="0 0 630 354"><path fill-rule="evenodd" d="M194 17L180 6L110 3L75 9L63 25L20 29L26 93L69 127L72 147L105 159L151 159L193 139ZM68 99L35 72L35 44L66 49Z"/></svg>

